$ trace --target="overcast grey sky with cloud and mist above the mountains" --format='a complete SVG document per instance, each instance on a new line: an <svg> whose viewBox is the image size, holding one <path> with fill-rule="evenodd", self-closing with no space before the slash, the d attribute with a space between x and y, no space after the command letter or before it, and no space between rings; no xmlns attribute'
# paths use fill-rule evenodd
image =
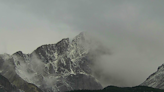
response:
<svg viewBox="0 0 164 92"><path fill-rule="evenodd" d="M109 73L124 72L116 80L137 85L164 63L163 4L164 0L0 0L0 53L30 53L42 44L91 31L113 51L102 61L105 68L110 66Z"/></svg>

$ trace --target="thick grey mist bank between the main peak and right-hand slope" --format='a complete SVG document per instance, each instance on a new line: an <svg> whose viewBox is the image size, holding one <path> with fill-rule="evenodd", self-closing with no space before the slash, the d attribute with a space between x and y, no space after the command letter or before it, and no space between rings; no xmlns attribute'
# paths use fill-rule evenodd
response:
<svg viewBox="0 0 164 92"><path fill-rule="evenodd" d="M110 33L108 37L92 35L110 51L110 54L97 57L93 67L94 76L103 87L140 85L163 64L164 50L161 42L135 34Z"/></svg>

